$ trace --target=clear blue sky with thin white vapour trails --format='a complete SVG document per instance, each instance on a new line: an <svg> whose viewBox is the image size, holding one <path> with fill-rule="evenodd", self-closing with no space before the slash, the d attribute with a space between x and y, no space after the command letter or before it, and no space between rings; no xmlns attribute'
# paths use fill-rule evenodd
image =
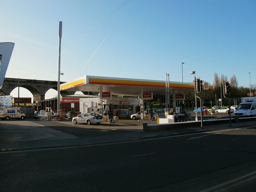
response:
<svg viewBox="0 0 256 192"><path fill-rule="evenodd" d="M84 75L256 83L256 0L0 0L0 42L14 42L6 77Z"/></svg>

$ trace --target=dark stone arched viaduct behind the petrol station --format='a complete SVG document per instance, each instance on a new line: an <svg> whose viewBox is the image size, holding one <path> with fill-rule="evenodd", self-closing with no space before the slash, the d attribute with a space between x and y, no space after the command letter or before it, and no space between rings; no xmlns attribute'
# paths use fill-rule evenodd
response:
<svg viewBox="0 0 256 192"><path fill-rule="evenodd" d="M34 102L44 100L44 96L49 89L58 91L57 81L46 80L32 80L32 79L18 79L18 78L4 78L4 83L0 89L0 96L10 95L12 90L19 86L29 90L34 98ZM60 82L60 84L65 82ZM60 91L62 96L73 95L73 91ZM87 94L87 93L86 93Z"/></svg>

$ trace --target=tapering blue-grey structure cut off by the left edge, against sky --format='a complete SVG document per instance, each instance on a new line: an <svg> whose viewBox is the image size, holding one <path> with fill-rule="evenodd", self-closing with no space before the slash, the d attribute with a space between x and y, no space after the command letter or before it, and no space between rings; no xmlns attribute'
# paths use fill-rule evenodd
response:
<svg viewBox="0 0 256 192"><path fill-rule="evenodd" d="M0 43L0 89L2 88L4 77L12 56L14 43L2 42Z"/></svg>

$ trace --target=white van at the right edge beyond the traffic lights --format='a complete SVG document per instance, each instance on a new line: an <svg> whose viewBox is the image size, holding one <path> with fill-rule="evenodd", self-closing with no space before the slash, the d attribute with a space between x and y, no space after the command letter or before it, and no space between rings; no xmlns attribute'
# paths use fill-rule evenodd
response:
<svg viewBox="0 0 256 192"><path fill-rule="evenodd" d="M256 116L256 97L244 97L242 102L234 111L234 116L253 117Z"/></svg>

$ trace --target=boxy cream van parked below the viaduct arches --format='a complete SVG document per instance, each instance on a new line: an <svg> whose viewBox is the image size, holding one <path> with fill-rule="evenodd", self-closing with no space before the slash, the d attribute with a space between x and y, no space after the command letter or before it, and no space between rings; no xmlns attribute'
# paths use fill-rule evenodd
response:
<svg viewBox="0 0 256 192"><path fill-rule="evenodd" d="M0 107L0 118L9 120L10 118L24 119L26 115L20 110L20 107Z"/></svg>

